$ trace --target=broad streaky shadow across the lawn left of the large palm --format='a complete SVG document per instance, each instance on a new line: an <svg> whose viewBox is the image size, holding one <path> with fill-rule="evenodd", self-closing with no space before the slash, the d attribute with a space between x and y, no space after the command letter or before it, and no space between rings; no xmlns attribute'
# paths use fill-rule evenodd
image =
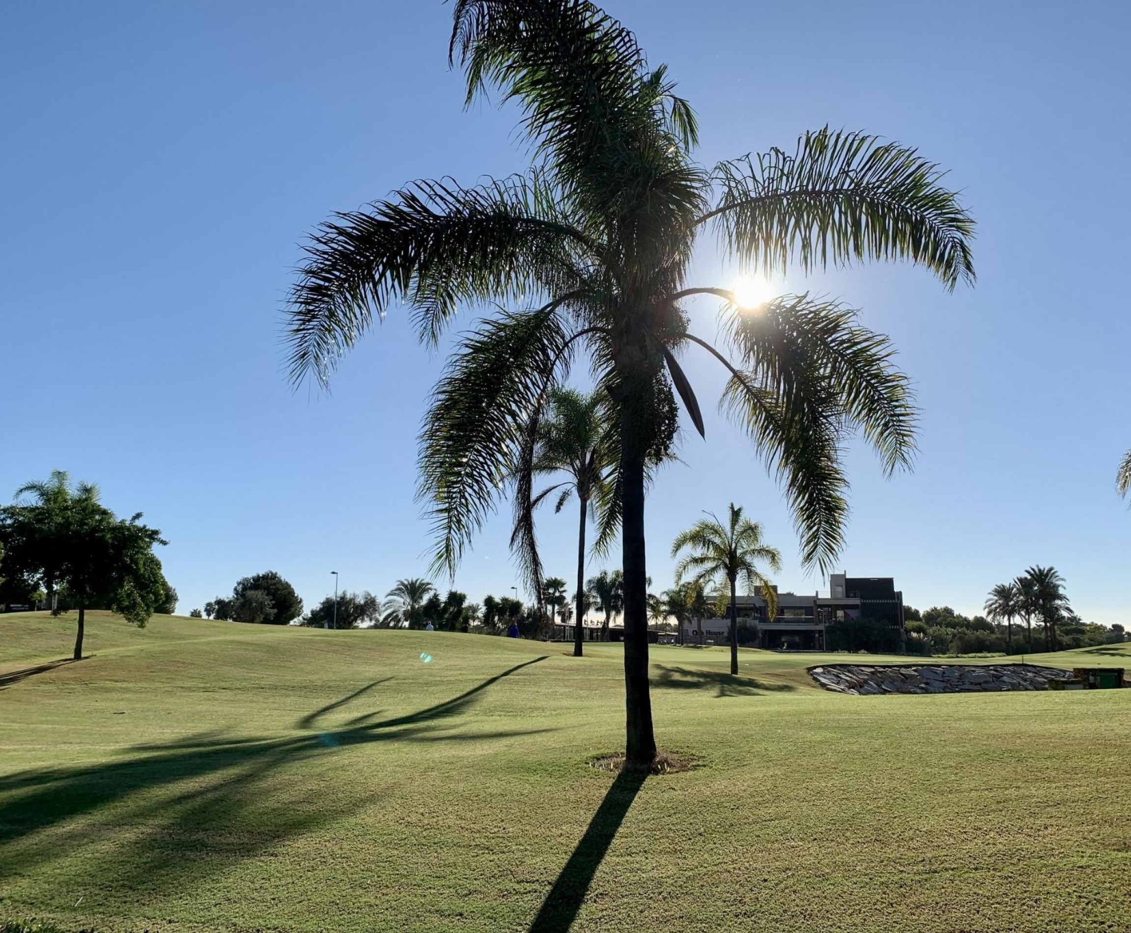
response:
<svg viewBox="0 0 1131 933"><path fill-rule="evenodd" d="M136 745L132 757L103 764L0 777L0 876L26 874L83 852L85 870L96 874L103 890L181 890L380 796L361 789L327 794L309 783L287 786L288 766L354 744L474 742L538 732L451 728L491 684L544 659L510 667L404 716L369 722L379 715L370 714L338 728L282 738L199 733ZM302 717L296 726L314 728L327 712L379 683ZM103 809L101 821L79 819Z"/></svg>

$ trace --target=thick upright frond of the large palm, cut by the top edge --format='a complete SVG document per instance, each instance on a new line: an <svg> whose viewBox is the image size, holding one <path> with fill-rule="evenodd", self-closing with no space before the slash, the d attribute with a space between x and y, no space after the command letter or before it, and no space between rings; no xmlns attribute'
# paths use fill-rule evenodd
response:
<svg viewBox="0 0 1131 933"><path fill-rule="evenodd" d="M459 0L450 58L468 103L489 86L519 102L563 201L612 252L655 262L687 249L706 204L687 157L693 116L629 29L589 0Z"/></svg>

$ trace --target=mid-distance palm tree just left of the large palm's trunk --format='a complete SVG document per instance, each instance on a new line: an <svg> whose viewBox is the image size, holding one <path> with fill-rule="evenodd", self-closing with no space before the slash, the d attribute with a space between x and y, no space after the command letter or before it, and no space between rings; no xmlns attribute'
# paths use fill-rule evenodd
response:
<svg viewBox="0 0 1131 933"><path fill-rule="evenodd" d="M567 388L553 389L546 399L546 414L537 426L530 468L519 478L515 496L515 530L511 546L520 558L533 562L528 572L541 570L537 545L534 539L534 509L551 493L558 493L554 511L561 511L571 495L578 501L577 535L577 589L585 585L585 527L590 512L598 524L594 551L607 551L616 530L619 516L613 508L613 482L616 472L616 447L614 432L602 412L599 392L582 395ZM569 478L556 483L532 496L528 483L535 477L566 474ZM599 510L594 506L599 506ZM566 584L562 581L562 587ZM581 619L581 608L577 608ZM581 657L582 636L580 625L573 629L573 656Z"/></svg>

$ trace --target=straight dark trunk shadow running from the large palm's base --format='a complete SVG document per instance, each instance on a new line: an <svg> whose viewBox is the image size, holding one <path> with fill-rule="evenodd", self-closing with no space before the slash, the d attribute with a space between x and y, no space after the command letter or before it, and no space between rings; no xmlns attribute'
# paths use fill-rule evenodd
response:
<svg viewBox="0 0 1131 933"><path fill-rule="evenodd" d="M629 768L616 776L542 902L529 933L566 933L573 925L589 884L647 777L647 771Z"/></svg>

